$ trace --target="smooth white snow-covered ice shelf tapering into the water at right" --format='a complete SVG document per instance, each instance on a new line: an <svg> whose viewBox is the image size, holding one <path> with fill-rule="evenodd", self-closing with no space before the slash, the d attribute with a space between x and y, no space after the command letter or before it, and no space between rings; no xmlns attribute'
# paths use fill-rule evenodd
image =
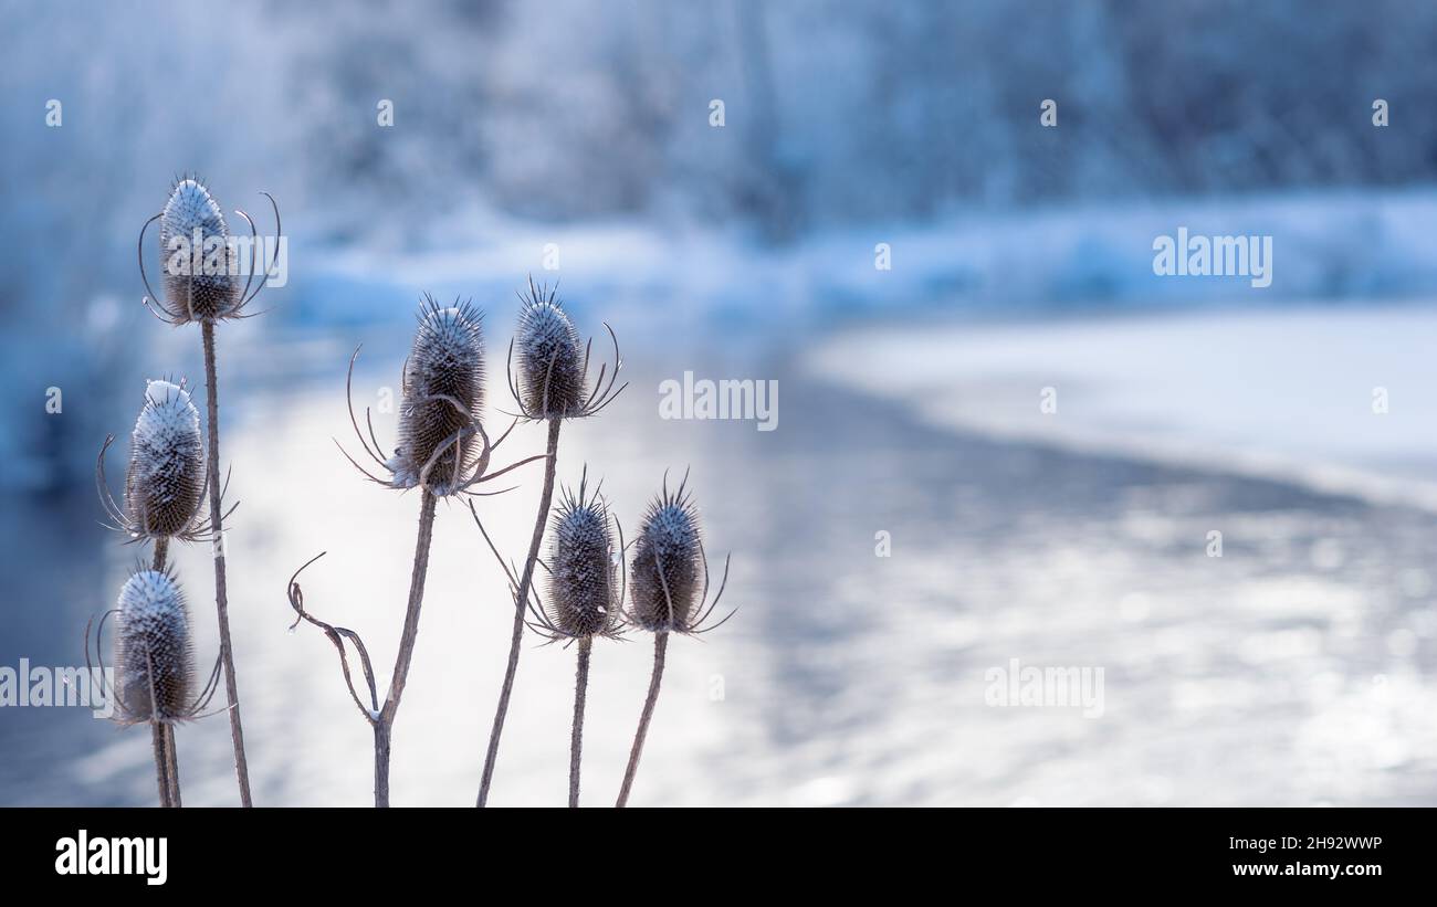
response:
<svg viewBox="0 0 1437 907"><path fill-rule="evenodd" d="M1437 509L1434 337L1430 307L1229 310L852 332L806 365L938 425Z"/></svg>

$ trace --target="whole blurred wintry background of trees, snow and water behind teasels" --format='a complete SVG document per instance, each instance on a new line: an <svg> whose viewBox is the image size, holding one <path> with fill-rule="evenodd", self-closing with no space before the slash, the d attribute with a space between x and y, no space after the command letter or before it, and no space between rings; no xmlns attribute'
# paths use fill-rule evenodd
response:
<svg viewBox="0 0 1437 907"><path fill-rule="evenodd" d="M98 525L93 466L115 433L118 491L147 379L203 383L135 260L198 172L262 230L272 192L290 241L267 313L218 332L257 804L371 802L335 653L286 631L289 575L328 551L306 603L388 679L418 499L335 449L349 354L378 408L421 293L461 296L499 376L530 274L614 326L632 380L566 429L560 481L586 464L631 527L691 469L733 553L740 611L670 646L635 804L1437 802L1437 7L6 0L0 23L0 666L82 664L147 554ZM1272 284L1155 276L1180 227L1272 237ZM154 232L142 253L154 274ZM660 418L684 372L777 382L777 429ZM514 558L537 485L481 499ZM201 663L207 554L177 555ZM473 802L504 594L441 508L397 805ZM536 643L496 804L563 802L573 656ZM1012 659L1101 667L1102 716L994 708ZM612 802L648 667L638 634L595 650L586 804ZM151 804L147 736L0 708L0 804ZM223 716L178 746L187 805L237 802Z"/></svg>

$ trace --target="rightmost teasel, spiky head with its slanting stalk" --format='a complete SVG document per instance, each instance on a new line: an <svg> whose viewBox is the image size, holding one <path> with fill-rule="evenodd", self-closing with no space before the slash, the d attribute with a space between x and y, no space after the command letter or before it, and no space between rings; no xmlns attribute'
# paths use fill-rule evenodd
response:
<svg viewBox="0 0 1437 907"><path fill-rule="evenodd" d="M619 788L616 807L627 805L629 792L634 789L634 775L638 772L638 761L644 753L648 725L654 719L658 686L664 679L668 634L691 636L717 630L734 614L730 611L718 623L706 626L729 583L729 558L724 558L718 593L710 603L708 557L704 554L698 509L694 507L693 497L685 491L687 484L688 475L685 474L678 489L670 492L668 476L664 476L662 489L648 505L639 534L634 540L634 561L629 565L632 603L625 617L635 627L654 634L654 672L648 680L648 696L644 699L644 710L639 713L638 730L634 733L634 746L629 751L628 768L624 772L624 785Z"/></svg>

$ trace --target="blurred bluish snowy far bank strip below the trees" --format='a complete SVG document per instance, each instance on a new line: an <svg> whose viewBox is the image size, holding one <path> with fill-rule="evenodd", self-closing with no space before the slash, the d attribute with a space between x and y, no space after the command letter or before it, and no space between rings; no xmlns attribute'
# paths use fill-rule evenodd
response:
<svg viewBox="0 0 1437 907"><path fill-rule="evenodd" d="M655 332L779 334L835 319L1286 306L1437 293L1427 250L1437 192L1296 192L979 211L816 231L787 245L740 230L614 221L435 222L422 251L297 250L296 304L313 323L407 320L421 291L504 306L525 274L562 280L581 311L632 311ZM1272 286L1158 277L1152 243L1180 228L1270 237Z"/></svg>

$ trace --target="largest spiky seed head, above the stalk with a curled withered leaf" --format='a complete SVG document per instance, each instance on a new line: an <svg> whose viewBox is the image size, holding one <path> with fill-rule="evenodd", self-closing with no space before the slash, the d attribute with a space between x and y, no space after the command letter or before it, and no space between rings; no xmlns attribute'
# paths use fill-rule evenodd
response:
<svg viewBox="0 0 1437 907"><path fill-rule="evenodd" d="M473 431L484 403L483 316L468 303L441 307L427 296L418 317L404 370L399 443L388 466L395 488L414 488L433 458L430 491L445 495L483 448Z"/></svg>

